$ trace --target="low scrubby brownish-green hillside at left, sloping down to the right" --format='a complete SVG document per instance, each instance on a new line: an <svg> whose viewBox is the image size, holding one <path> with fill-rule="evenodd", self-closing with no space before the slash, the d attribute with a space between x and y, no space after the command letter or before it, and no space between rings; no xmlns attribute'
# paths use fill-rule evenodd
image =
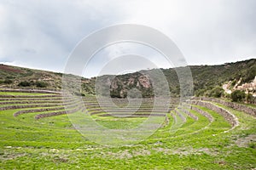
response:
<svg viewBox="0 0 256 170"><path fill-rule="evenodd" d="M0 87L1 88L42 88L61 90L62 73L52 71L33 70L12 65L0 65ZM93 91L92 79L81 78L84 93Z"/></svg>

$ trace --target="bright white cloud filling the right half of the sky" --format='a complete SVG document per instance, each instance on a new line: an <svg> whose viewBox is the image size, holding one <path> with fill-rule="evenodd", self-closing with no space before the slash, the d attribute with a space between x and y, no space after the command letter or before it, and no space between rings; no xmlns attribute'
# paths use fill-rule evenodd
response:
<svg viewBox="0 0 256 170"><path fill-rule="evenodd" d="M256 57L255 1L140 1L134 8L126 22L164 32L177 43L189 64Z"/></svg>

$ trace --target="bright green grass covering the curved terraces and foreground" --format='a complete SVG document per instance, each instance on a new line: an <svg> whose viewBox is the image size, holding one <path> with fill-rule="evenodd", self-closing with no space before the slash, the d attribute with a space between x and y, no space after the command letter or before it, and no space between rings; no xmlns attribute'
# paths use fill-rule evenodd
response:
<svg viewBox="0 0 256 170"><path fill-rule="evenodd" d="M4 99L1 95L9 94L30 95L0 93L0 99ZM89 99L87 103L94 101ZM255 169L255 117L218 105L239 121L239 126L229 131L232 126L224 116L207 107L194 106L212 116L212 121L197 111L190 111L197 119L184 111L171 111L166 113L168 122L147 139L118 147L96 144L79 133L71 119L83 116L81 110L68 116L38 120L36 115L52 111L32 111L19 116L14 114L20 109L0 111L0 169ZM21 110L42 108L45 107L39 105ZM99 107L91 106L90 113L96 109ZM99 111L91 117L109 129L132 129L147 120L142 116L100 116L102 114ZM155 117L156 121L161 119Z"/></svg>

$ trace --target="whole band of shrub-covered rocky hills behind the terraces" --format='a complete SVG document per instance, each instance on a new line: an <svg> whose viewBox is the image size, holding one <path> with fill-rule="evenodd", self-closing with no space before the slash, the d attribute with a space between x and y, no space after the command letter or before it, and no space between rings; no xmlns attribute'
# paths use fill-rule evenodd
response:
<svg viewBox="0 0 256 170"><path fill-rule="evenodd" d="M194 83L194 94L197 96L211 96L213 89L224 88L227 94L240 89L256 95L256 59L248 59L224 65L190 65ZM178 68L176 68L178 69ZM82 78L82 94L95 94L96 81L104 88L103 94L112 97L125 98L127 91L137 88L143 97L152 97L154 90L149 75L158 77L162 71L169 83L172 96L178 97L180 87L175 69L154 69L139 71L119 76L102 76L91 79ZM61 73L39 71L10 65L0 65L1 88L54 88L61 89ZM110 88L109 88L110 87ZM79 92L80 93L80 92ZM135 96L136 97L136 96Z"/></svg>

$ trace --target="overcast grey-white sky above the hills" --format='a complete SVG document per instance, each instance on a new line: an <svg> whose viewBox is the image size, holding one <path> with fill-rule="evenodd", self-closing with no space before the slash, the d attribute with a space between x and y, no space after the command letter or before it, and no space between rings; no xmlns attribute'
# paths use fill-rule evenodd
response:
<svg viewBox="0 0 256 170"><path fill-rule="evenodd" d="M256 58L255 8L255 0L0 0L0 63L62 72L84 37L124 23L163 32L189 65L252 59ZM133 46L119 44L99 53L87 77L96 76L102 67L100 54L113 59L127 50L148 55L159 67L170 67L151 49L133 51Z"/></svg>

